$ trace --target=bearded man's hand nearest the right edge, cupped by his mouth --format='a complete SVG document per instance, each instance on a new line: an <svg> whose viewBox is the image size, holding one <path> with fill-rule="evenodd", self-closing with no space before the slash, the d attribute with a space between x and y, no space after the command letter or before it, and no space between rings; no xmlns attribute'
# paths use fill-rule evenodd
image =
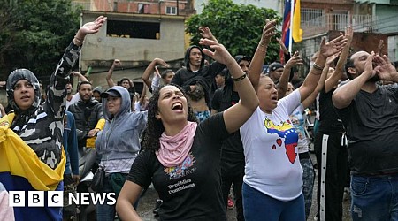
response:
<svg viewBox="0 0 398 221"><path fill-rule="evenodd" d="M376 55L373 59L374 64L377 66L374 71L378 74L380 80L391 80L396 82L398 72L396 72L394 65L391 64L390 59L386 55L380 57Z"/></svg>

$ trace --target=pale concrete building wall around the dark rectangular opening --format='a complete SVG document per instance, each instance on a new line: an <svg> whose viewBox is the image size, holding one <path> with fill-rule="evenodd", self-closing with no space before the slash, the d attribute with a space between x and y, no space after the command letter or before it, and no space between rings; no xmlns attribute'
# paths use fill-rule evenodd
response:
<svg viewBox="0 0 398 221"><path fill-rule="evenodd" d="M101 12L83 13L82 23L95 19ZM88 35L81 50L80 71L88 66L109 68L110 61L120 59L126 66L136 66L149 62L155 57L165 61L184 57L184 17L154 16L138 14L105 13L108 19L134 21L160 21L160 38L137 39L106 36L106 24L97 34Z"/></svg>

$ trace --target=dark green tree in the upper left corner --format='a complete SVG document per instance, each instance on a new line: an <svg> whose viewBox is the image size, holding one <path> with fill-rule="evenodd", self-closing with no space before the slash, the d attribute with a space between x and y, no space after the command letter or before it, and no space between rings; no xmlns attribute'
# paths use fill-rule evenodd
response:
<svg viewBox="0 0 398 221"><path fill-rule="evenodd" d="M80 9L73 9L71 0L3 2L0 10L1 78L15 68L27 68L46 84L80 26Z"/></svg>

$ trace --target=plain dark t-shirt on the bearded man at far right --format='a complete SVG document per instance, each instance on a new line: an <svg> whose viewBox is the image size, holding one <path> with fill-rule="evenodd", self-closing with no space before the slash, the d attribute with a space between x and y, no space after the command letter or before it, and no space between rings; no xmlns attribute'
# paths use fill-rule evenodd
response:
<svg viewBox="0 0 398 221"><path fill-rule="evenodd" d="M361 90L347 108L337 110L348 136L352 174L398 173L398 87Z"/></svg>

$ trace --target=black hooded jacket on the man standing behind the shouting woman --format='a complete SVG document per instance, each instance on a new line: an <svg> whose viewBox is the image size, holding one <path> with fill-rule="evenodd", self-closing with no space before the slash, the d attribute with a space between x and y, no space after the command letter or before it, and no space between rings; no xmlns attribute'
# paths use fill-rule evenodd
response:
<svg viewBox="0 0 398 221"><path fill-rule="evenodd" d="M201 66L197 72L193 72L189 65L189 54L192 49L198 49L202 53ZM210 104L210 95L214 93L211 85L214 82L214 78L216 77L218 72L221 72L226 65L223 65L218 62L213 62L210 65L204 65L204 54L201 48L198 46L191 46L188 48L184 57L184 65L185 67L181 67L172 78L172 83L176 85L180 85L184 88L185 91L189 90L190 85L195 85L196 83L200 83L203 86L203 89L206 93L206 102Z"/></svg>

